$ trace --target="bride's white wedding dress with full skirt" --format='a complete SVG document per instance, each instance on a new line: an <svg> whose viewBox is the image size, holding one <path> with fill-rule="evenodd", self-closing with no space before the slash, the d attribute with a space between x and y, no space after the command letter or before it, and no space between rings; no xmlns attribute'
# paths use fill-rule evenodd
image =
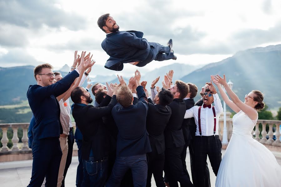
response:
<svg viewBox="0 0 281 187"><path fill-rule="evenodd" d="M251 134L258 118L251 120L241 110L232 120L233 133L219 166L216 187L280 187L280 165Z"/></svg>

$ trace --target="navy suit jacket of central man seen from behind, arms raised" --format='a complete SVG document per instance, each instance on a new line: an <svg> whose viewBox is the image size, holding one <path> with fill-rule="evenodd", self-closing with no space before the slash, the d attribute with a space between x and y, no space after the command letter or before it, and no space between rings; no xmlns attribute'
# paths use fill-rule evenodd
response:
<svg viewBox="0 0 281 187"><path fill-rule="evenodd" d="M148 99L143 86L137 87L139 102L128 108L119 103L112 109L112 116L118 127L116 156L134 156L151 152L146 116Z"/></svg>

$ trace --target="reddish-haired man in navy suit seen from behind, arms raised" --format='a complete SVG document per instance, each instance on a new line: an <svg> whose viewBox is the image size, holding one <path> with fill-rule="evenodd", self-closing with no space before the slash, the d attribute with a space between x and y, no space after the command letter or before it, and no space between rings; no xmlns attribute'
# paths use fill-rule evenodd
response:
<svg viewBox="0 0 281 187"><path fill-rule="evenodd" d="M116 104L112 109L112 117L118 127L116 160L106 187L118 187L128 169L132 170L133 184L138 187L146 186L147 160L146 153L151 152L146 116L148 99L140 85L140 73L135 72L139 102L133 105L133 93L125 85L125 81L117 92Z"/></svg>

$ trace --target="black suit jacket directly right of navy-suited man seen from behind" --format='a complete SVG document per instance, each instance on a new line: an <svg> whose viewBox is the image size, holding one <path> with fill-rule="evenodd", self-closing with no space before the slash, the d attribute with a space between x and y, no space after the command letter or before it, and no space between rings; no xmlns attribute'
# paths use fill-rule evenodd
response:
<svg viewBox="0 0 281 187"><path fill-rule="evenodd" d="M146 129L149 133L151 149L158 154L165 151L165 138L163 132L171 115L172 110L169 106L148 103Z"/></svg>

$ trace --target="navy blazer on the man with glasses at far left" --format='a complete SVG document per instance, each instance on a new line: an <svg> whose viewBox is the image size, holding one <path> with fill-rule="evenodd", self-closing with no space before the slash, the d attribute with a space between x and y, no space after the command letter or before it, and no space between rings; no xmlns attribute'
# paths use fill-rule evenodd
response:
<svg viewBox="0 0 281 187"><path fill-rule="evenodd" d="M78 72L72 71L55 84L44 87L38 84L29 86L27 98L36 122L32 129L33 140L59 137L62 134L60 109L56 97L66 92L77 77Z"/></svg>

